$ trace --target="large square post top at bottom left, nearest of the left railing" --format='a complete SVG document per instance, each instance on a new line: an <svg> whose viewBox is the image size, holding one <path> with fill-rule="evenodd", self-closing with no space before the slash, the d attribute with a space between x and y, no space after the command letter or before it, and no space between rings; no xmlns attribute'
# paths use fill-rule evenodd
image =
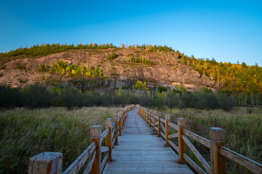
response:
<svg viewBox="0 0 262 174"><path fill-rule="evenodd" d="M43 152L29 160L28 174L62 174L63 154Z"/></svg>

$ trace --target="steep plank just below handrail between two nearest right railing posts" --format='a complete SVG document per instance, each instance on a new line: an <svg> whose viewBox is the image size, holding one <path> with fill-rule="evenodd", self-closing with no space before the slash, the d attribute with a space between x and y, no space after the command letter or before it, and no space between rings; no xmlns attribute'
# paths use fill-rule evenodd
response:
<svg viewBox="0 0 262 174"><path fill-rule="evenodd" d="M203 167L206 169L206 171L211 174L211 166L207 163L207 161L201 156L201 154L198 152L198 150L196 149L196 147L190 142L190 140L182 135L183 140L185 141L186 145L190 148L190 150L194 153L194 155L196 155L197 160L199 160L199 162L203 165Z"/></svg>

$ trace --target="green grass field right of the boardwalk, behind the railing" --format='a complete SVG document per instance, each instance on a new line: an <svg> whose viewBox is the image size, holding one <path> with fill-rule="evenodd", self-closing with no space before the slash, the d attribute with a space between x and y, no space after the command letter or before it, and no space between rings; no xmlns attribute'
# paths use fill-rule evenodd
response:
<svg viewBox="0 0 262 174"><path fill-rule="evenodd" d="M198 110L165 108L162 112L171 115L171 122L177 124L178 118L185 118L186 129L204 138L209 138L209 128L225 130L226 147L241 155L262 163L262 112L253 108L247 114L246 108L235 108L232 112L224 110ZM192 142L203 157L210 160L210 149L197 142ZM188 150L190 153L190 150ZM192 154L189 154L192 156ZM194 156L192 156L194 158ZM195 159L196 160L196 159ZM197 162L199 164L199 162ZM248 171L238 164L227 160L228 173L246 174Z"/></svg>

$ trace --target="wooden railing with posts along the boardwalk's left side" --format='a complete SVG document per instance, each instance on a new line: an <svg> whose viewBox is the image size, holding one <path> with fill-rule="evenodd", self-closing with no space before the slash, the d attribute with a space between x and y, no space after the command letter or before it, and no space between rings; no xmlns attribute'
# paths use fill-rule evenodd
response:
<svg viewBox="0 0 262 174"><path fill-rule="evenodd" d="M100 125L92 126L91 144L63 174L77 174L84 164L86 165L83 174L101 174L106 162L112 161L112 149L118 143L118 136L121 136L127 113L133 108L134 105L126 106L125 109L114 115L113 121L112 118L107 118L104 132L101 132ZM101 146L104 139L105 146ZM101 153L105 153L103 160L101 160ZM62 162L63 153L43 152L30 158L28 174L62 174Z"/></svg>

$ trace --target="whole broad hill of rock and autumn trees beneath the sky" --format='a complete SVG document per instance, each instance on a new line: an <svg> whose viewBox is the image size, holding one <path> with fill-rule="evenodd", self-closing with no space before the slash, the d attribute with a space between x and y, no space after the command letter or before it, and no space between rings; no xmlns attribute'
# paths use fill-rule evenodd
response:
<svg viewBox="0 0 262 174"><path fill-rule="evenodd" d="M102 88L108 88L108 93L112 93L118 87L131 89L141 80L152 90L180 85L189 91L208 87L262 93L262 68L258 65L196 59L168 46L43 44L1 53L0 63L1 86L24 87L41 82L82 91L101 92Z"/></svg>

